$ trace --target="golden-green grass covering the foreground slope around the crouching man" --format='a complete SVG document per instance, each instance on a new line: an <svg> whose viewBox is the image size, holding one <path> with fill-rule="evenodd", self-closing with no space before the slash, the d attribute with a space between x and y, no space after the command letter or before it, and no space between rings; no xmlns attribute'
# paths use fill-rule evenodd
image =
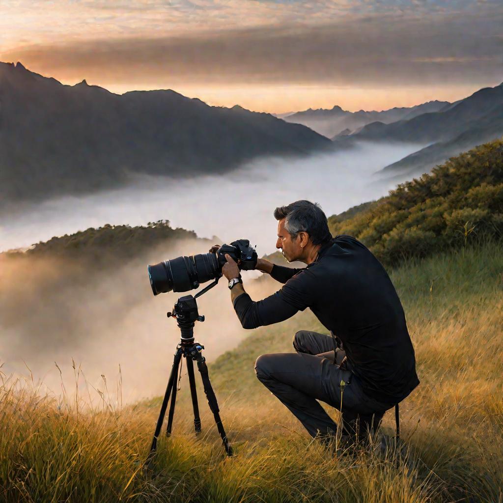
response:
<svg viewBox="0 0 503 503"><path fill-rule="evenodd" d="M200 388L203 432L193 435L185 382L174 434L148 471L159 399L85 409L84 397L40 396L29 380L4 378L0 500L502 503L502 273L503 248L491 243L393 272L422 381L401 406L405 459L381 455L377 442L333 456L257 382L260 353L291 351L295 330L319 328L303 313L254 332L210 368L232 458ZM389 413L383 430L392 427Z"/></svg>

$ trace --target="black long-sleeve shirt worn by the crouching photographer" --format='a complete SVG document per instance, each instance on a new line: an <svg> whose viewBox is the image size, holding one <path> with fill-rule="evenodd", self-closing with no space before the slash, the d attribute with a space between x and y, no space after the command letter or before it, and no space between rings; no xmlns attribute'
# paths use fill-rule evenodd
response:
<svg viewBox="0 0 503 503"><path fill-rule="evenodd" d="M395 403L419 380L400 299L374 255L352 236L323 245L303 269L274 266L271 276L284 286L254 302L247 293L234 300L244 328L270 325L309 307L342 341L350 370L363 389Z"/></svg>

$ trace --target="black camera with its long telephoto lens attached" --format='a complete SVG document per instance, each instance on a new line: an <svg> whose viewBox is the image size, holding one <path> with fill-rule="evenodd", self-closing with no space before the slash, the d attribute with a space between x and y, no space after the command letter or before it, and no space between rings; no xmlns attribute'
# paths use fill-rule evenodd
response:
<svg viewBox="0 0 503 503"><path fill-rule="evenodd" d="M257 265L257 251L248 239L238 239L222 244L216 253L191 255L165 260L148 266L148 277L154 295L167 292L187 292L201 283L222 276L222 267L228 254L238 263L239 269L249 271Z"/></svg>

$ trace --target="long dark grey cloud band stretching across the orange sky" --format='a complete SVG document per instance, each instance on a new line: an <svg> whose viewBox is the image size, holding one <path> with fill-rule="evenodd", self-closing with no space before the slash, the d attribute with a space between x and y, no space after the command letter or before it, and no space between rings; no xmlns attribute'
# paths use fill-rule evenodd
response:
<svg viewBox="0 0 503 503"><path fill-rule="evenodd" d="M51 75L91 81L154 80L177 87L204 81L333 86L418 86L501 80L502 16L368 16L335 22L200 30L41 44L2 54ZM165 86L163 86L165 87Z"/></svg>

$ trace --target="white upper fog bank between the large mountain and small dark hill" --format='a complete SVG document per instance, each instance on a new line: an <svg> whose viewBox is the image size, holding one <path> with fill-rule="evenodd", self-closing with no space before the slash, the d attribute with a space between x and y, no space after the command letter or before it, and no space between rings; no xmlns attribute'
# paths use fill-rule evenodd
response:
<svg viewBox="0 0 503 503"><path fill-rule="evenodd" d="M129 187L62 197L31 210L0 215L0 251L105 223L172 226L225 241L246 237L259 255L274 251L274 208L297 199L319 202L326 215L386 195L396 181L371 175L423 145L364 143L354 149L295 160L268 158L224 176L193 180L142 177ZM159 257L159 260L163 257Z"/></svg>

